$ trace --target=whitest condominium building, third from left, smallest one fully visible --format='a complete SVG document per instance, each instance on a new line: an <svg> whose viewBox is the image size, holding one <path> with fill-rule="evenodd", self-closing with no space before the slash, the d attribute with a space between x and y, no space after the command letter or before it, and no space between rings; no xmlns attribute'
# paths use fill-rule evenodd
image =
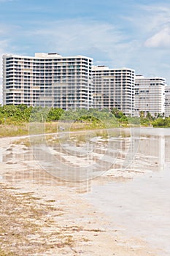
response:
<svg viewBox="0 0 170 256"><path fill-rule="evenodd" d="M144 116L148 112L152 116L164 113L164 78L144 78L136 75L135 78L135 114L139 116L142 111Z"/></svg>

